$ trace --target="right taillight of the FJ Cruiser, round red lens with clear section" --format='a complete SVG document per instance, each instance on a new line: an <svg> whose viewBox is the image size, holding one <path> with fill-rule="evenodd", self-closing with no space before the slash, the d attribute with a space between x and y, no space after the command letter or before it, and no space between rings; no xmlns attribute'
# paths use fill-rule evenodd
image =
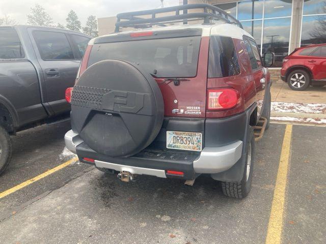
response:
<svg viewBox="0 0 326 244"><path fill-rule="evenodd" d="M239 101L239 93L235 89L209 89L207 93L209 110L230 109Z"/></svg>

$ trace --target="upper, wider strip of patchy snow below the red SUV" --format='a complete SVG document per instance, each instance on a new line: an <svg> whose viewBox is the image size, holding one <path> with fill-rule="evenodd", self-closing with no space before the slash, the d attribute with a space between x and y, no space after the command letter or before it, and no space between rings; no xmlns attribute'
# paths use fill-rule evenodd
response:
<svg viewBox="0 0 326 244"><path fill-rule="evenodd" d="M326 114L326 104L323 103L284 103L271 102L272 112L315 113Z"/></svg>

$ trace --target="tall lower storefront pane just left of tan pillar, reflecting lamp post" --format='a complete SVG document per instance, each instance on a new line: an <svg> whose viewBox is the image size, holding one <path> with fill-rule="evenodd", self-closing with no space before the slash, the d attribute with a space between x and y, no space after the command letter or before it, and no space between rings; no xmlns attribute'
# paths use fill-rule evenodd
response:
<svg viewBox="0 0 326 244"><path fill-rule="evenodd" d="M282 60L288 55L291 18L264 20L262 52L274 52L274 67L282 67Z"/></svg>

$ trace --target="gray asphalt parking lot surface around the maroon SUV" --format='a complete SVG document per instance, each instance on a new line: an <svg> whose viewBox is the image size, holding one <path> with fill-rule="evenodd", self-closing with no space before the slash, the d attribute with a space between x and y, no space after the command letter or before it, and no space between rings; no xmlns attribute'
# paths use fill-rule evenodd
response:
<svg viewBox="0 0 326 244"><path fill-rule="evenodd" d="M68 121L13 137L0 194L73 158L63 153L67 130ZM151 176L125 183L71 163L0 198L0 243L272 243L267 236L325 243L325 130L271 124L256 145L253 187L243 200L225 197L205 175L193 187ZM282 187L284 196L276 194Z"/></svg>

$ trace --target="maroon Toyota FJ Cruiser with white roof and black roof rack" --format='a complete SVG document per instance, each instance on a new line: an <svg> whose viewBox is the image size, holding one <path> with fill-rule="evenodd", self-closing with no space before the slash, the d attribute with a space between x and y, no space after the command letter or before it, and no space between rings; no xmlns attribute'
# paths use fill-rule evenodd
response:
<svg viewBox="0 0 326 244"><path fill-rule="evenodd" d="M190 9L202 11L184 11ZM269 123L265 67L273 65L274 54L265 54L263 62L241 23L211 5L117 19L115 34L89 42L76 84L66 91L72 126L67 148L80 162L119 171L125 181L146 174L192 185L209 174L222 181L225 195L246 197L254 129L260 118L263 130ZM185 23L193 20L203 23ZM142 29L120 32L122 27Z"/></svg>

